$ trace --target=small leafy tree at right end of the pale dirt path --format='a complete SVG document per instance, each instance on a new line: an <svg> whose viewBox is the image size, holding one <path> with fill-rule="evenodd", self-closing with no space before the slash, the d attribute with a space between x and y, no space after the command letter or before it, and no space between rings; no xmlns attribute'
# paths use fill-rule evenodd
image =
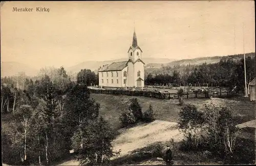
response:
<svg viewBox="0 0 256 166"><path fill-rule="evenodd" d="M189 149L197 149L201 140L201 131L204 124L203 113L192 104L185 104L179 112L179 128L184 132Z"/></svg>

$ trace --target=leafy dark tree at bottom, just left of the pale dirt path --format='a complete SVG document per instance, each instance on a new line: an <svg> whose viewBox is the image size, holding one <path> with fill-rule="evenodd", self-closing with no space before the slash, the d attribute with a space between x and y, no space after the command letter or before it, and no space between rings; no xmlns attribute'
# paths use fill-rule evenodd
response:
<svg viewBox="0 0 256 166"><path fill-rule="evenodd" d="M84 121L81 129L82 134L76 130L72 137L72 147L78 152L80 165L110 164L110 158L119 154L111 144L116 134L103 118ZM86 146L80 146L80 140Z"/></svg>

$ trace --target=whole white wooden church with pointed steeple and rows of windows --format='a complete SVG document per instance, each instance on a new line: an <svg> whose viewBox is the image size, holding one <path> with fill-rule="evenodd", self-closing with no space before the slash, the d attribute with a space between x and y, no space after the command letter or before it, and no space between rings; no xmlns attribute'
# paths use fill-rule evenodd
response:
<svg viewBox="0 0 256 166"><path fill-rule="evenodd" d="M137 44L134 31L133 44L128 50L128 60L105 65L98 70L99 86L102 87L144 87L144 65L142 50Z"/></svg>

